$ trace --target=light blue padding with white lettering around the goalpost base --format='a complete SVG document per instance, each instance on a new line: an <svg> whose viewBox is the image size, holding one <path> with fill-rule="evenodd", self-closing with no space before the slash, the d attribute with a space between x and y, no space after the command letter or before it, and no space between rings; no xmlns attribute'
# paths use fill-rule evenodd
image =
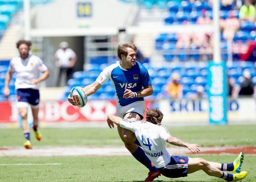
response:
<svg viewBox="0 0 256 182"><path fill-rule="evenodd" d="M227 124L225 62L208 63L208 100L210 124Z"/></svg>

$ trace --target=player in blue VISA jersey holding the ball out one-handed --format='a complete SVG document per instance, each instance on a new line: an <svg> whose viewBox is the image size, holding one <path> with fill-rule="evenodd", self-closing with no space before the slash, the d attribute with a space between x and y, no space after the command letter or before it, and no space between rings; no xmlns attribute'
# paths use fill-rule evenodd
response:
<svg viewBox="0 0 256 182"><path fill-rule="evenodd" d="M147 69L136 61L136 50L136 46L132 43L120 44L117 48L117 56L121 61L116 61L106 67L94 83L83 89L87 96L92 95L110 79L116 90L116 116L141 120L145 109L143 97L153 94L153 88ZM70 97L70 92L68 101L75 105L73 98ZM144 151L136 145L139 142L135 141L135 144L131 141L134 138L134 133L121 127L117 127L117 130L125 147L150 170L145 181L152 181L159 176L159 170L152 166Z"/></svg>

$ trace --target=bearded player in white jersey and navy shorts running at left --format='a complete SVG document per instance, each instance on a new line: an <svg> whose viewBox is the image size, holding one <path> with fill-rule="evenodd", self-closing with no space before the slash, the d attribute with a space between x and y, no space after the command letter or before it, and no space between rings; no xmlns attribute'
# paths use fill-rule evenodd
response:
<svg viewBox="0 0 256 182"><path fill-rule="evenodd" d="M29 54L31 41L20 40L16 43L20 56L12 58L9 69L6 73L4 95L9 96L9 82L13 72L16 72L15 89L17 94L17 107L22 117L22 130L26 142L25 148L32 148L29 136L29 125L27 122L28 105L30 104L33 115L33 130L35 137L41 140L41 133L38 131L39 111L39 85L38 83L49 77L47 67L43 61L34 55ZM38 78L39 71L42 72Z"/></svg>

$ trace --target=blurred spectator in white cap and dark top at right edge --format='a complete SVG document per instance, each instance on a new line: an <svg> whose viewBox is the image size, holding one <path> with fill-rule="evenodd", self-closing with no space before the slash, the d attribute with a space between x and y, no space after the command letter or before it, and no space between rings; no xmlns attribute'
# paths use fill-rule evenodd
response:
<svg viewBox="0 0 256 182"><path fill-rule="evenodd" d="M253 95L256 99L256 86L251 81L251 74L248 70L243 72L244 81L234 88L232 97L236 99L239 95Z"/></svg>

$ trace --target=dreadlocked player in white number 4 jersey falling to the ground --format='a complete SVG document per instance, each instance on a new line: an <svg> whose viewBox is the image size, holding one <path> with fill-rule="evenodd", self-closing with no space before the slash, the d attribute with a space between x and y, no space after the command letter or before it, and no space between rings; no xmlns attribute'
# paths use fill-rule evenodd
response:
<svg viewBox="0 0 256 182"><path fill-rule="evenodd" d="M109 128L115 123L118 127L131 130L135 133L133 140L139 140L140 144L154 163L161 174L170 177L185 177L187 174L203 170L210 176L220 177L226 181L238 181L245 178L247 172L241 172L241 165L244 160L243 152L241 152L233 163L217 163L209 162L202 158L188 158L186 156L174 156L166 150L166 142L187 147L192 153L200 151L199 145L186 143L176 137L170 135L167 128L161 125L163 114L158 109L150 109L146 111L146 122L132 121L122 119L118 116L109 114L107 123ZM236 174L224 173L223 171L233 171Z"/></svg>

